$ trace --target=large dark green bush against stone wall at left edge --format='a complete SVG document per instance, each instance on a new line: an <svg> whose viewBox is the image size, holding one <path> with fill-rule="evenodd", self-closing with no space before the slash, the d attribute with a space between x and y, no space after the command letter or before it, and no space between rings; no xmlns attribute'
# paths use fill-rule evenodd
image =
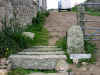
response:
<svg viewBox="0 0 100 75"><path fill-rule="evenodd" d="M16 20L10 20L7 23L5 18L2 24L2 30L0 31L0 57L8 57L10 54L28 48L29 44L32 44L31 39L22 35L23 29Z"/></svg>

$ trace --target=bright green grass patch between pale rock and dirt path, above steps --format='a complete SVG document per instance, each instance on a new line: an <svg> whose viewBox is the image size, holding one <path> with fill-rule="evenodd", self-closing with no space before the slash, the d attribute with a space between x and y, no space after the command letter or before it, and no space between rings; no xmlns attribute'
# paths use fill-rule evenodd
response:
<svg viewBox="0 0 100 75"><path fill-rule="evenodd" d="M31 32L35 33L35 38L33 39L33 46L48 45L49 32L46 28L42 28L41 31L37 31L35 27L33 27Z"/></svg>

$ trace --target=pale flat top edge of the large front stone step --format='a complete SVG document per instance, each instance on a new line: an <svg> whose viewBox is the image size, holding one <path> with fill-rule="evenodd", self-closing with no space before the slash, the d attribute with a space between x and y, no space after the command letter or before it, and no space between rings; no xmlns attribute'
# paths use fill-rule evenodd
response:
<svg viewBox="0 0 100 75"><path fill-rule="evenodd" d="M66 55L11 55L10 58L26 59L67 59Z"/></svg>

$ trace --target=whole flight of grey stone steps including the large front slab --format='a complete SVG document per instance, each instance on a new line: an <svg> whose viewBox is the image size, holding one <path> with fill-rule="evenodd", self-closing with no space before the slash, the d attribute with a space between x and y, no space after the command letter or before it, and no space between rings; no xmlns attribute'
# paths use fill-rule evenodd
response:
<svg viewBox="0 0 100 75"><path fill-rule="evenodd" d="M67 68L64 51L56 46L33 46L16 55L11 55L9 60L13 68L40 70L60 70L60 68L65 70Z"/></svg>

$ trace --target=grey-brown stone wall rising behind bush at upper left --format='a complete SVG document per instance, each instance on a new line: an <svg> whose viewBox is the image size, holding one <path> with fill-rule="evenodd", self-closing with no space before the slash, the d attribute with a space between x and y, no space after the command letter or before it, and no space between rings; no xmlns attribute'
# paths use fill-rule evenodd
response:
<svg viewBox="0 0 100 75"><path fill-rule="evenodd" d="M37 0L0 0L0 21L4 16L13 17L16 10L18 22L23 25L30 24L38 11Z"/></svg>

